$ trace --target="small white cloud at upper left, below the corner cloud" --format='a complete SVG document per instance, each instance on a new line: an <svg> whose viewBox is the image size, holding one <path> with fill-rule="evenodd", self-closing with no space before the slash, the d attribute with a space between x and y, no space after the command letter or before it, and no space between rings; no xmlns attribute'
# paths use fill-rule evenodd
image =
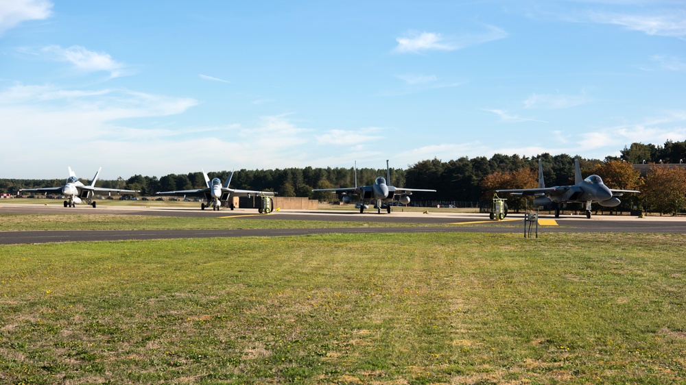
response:
<svg viewBox="0 0 686 385"><path fill-rule="evenodd" d="M121 71L126 66L113 60L108 53L98 53L88 51L88 49L73 45L69 48L62 48L58 45L44 47L41 51L55 55L56 60L70 62L77 69L84 72L105 71L110 73L110 77L123 75Z"/></svg>

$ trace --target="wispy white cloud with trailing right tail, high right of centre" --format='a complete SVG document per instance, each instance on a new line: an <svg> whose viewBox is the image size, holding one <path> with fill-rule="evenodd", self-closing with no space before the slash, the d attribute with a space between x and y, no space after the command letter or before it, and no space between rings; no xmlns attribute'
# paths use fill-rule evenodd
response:
<svg viewBox="0 0 686 385"><path fill-rule="evenodd" d="M398 45L393 49L396 53L421 53L423 51L454 51L484 42L498 40L508 36L507 32L491 25L486 31L477 34L463 34L445 37L434 32L410 31L396 38Z"/></svg>

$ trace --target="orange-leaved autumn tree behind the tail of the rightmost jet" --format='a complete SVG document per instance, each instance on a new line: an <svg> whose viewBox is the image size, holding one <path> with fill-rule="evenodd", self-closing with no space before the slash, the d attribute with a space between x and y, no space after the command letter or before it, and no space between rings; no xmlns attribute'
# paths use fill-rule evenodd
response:
<svg viewBox="0 0 686 385"><path fill-rule="evenodd" d="M519 169L505 173L495 172L486 175L480 183L484 192L484 199L493 199L495 190L509 190L512 188L536 188L539 186L537 174L532 169ZM507 199L508 208L519 212L525 207L525 197L503 193L499 195Z"/></svg>

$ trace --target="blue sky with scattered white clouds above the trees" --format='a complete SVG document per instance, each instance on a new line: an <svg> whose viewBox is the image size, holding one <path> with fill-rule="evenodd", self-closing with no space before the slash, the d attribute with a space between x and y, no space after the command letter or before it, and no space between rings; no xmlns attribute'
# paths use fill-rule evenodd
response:
<svg viewBox="0 0 686 385"><path fill-rule="evenodd" d="M686 140L683 1L0 0L0 177Z"/></svg>

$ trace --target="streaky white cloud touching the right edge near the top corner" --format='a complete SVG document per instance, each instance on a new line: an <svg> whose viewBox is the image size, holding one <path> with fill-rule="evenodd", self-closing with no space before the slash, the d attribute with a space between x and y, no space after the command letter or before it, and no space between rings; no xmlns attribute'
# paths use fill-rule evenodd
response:
<svg viewBox="0 0 686 385"><path fill-rule="evenodd" d="M686 12L683 10L652 16L595 12L590 14L590 18L595 23L622 25L648 35L686 38Z"/></svg>

